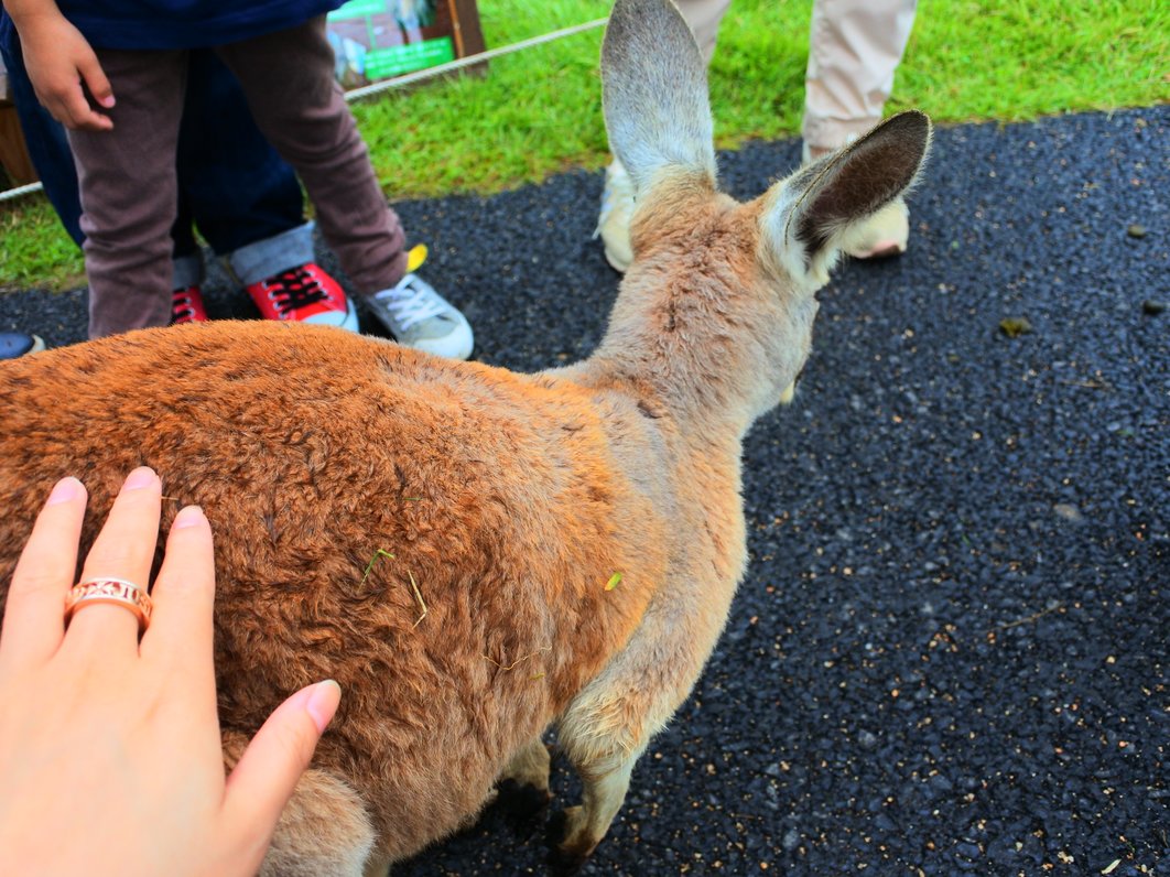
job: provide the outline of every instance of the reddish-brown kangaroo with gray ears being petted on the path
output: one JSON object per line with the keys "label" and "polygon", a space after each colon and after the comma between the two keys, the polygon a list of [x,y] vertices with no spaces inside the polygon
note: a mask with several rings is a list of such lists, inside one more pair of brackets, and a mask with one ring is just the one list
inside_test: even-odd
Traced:
{"label": "reddish-brown kangaroo with gray ears being petted on the path", "polygon": [[548,795],[553,725],[584,781],[557,851],[593,851],[743,575],[742,438],[803,367],[838,253],[929,147],[904,112],[738,203],[669,0],[618,0],[601,69],[635,260],[581,362],[517,374],[223,322],[0,366],[0,598],[57,478],[90,491],[88,547],[147,464],[161,532],[197,503],[218,536],[226,762],[287,693],[340,683],[266,873],[385,873],[502,779]]}

